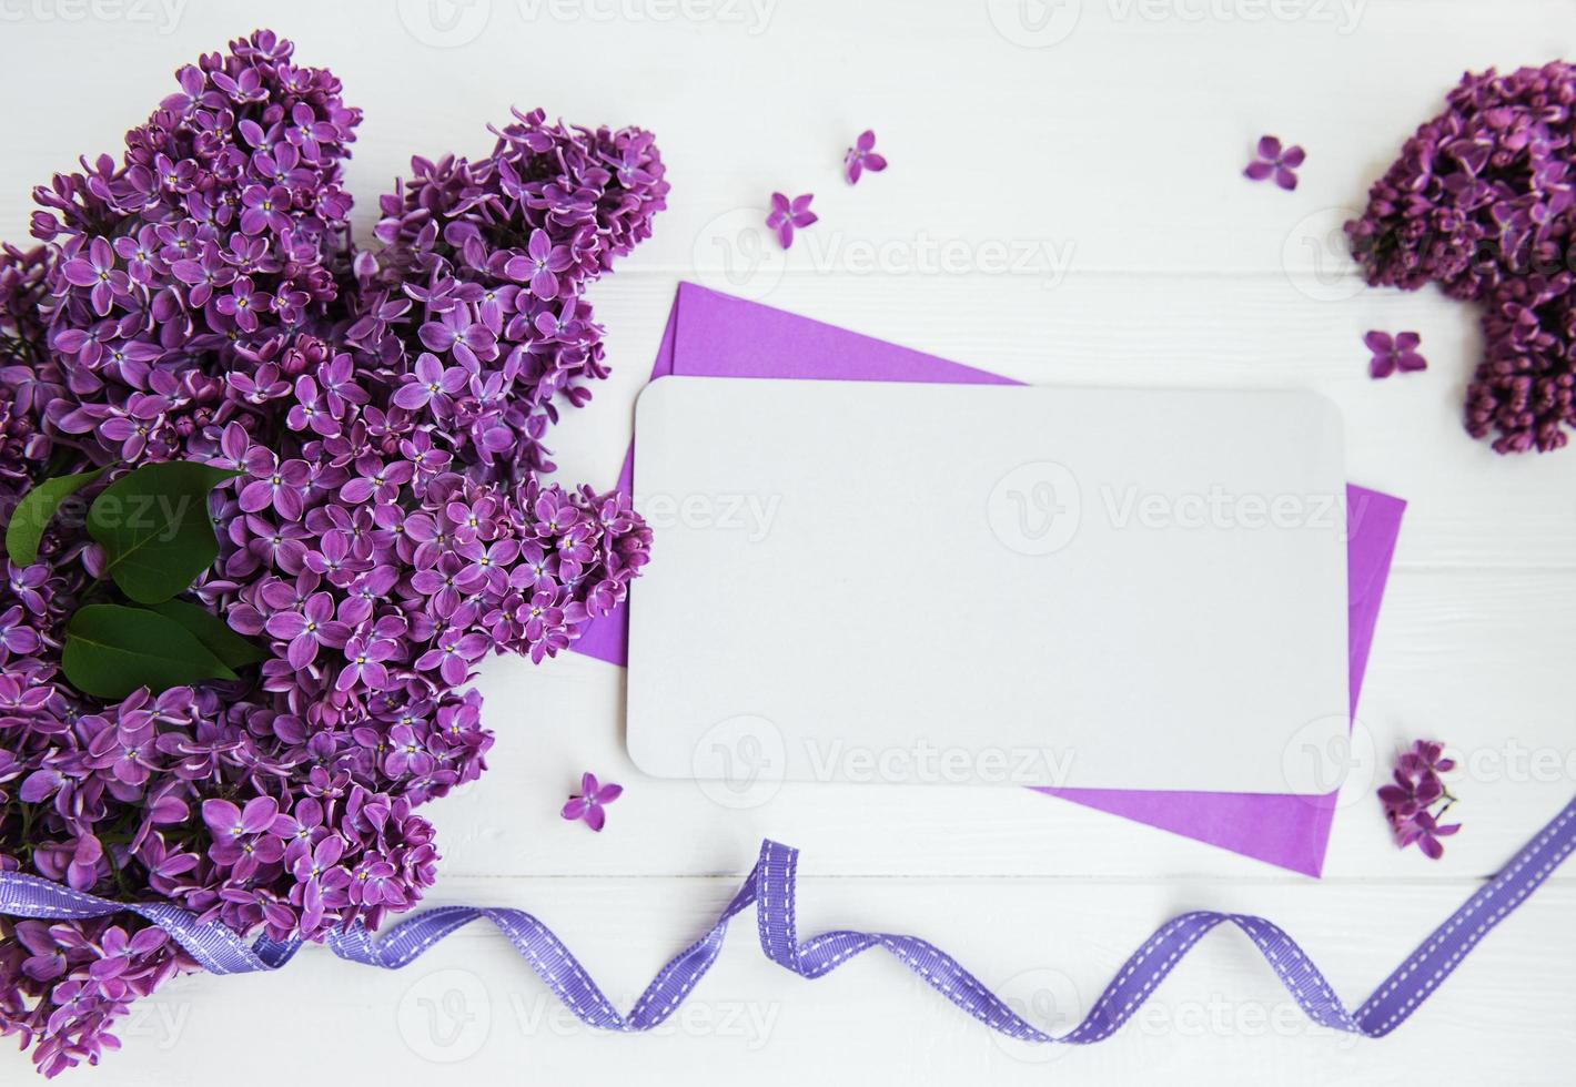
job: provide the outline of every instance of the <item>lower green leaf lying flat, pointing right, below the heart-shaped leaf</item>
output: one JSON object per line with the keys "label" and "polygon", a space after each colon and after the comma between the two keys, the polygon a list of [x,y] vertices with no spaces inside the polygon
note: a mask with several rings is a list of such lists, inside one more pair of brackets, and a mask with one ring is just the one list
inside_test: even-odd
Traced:
{"label": "lower green leaf lying flat, pointing right, below the heart-shaped leaf", "polygon": [[72,687],[95,698],[235,679],[181,624],[118,603],[90,603],[71,616],[60,666]]}

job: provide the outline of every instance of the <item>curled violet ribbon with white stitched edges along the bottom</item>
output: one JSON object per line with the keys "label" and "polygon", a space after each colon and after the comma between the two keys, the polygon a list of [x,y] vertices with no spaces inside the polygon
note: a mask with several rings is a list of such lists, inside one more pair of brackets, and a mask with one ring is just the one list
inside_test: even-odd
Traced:
{"label": "curled violet ribbon with white stitched edges along the bottom", "polygon": [[[1381,1038],[1428,999],[1467,952],[1527,898],[1576,848],[1576,800],[1571,800],[1488,884],[1374,989],[1357,1011],[1347,1011],[1324,974],[1280,926],[1251,914],[1195,911],[1171,918],[1139,947],[1073,1030],[1051,1037],[1018,1016],[1004,1000],[965,970],[957,959],[916,936],[832,931],[801,940],[794,926],[794,871],[799,851],[775,841],[761,844],[761,857],[709,933],[684,948],[646,986],[629,1015],[621,1015],[552,929],[519,909],[443,906],[422,911],[374,940],[356,928],[328,939],[342,959],[388,970],[413,963],[449,933],[485,918],[509,937],[547,988],[583,1022],[605,1030],[651,1030],[684,1002],[722,952],[728,922],[752,903],[766,958],[799,977],[831,974],[862,952],[884,948],[933,989],[971,1016],[1023,1041],[1089,1044],[1111,1037],[1187,952],[1217,925],[1231,923],[1248,934],[1297,1005],[1314,1022]],[[214,974],[274,970],[290,961],[299,942],[258,939],[247,944],[232,929],[197,918],[169,903],[113,903],[84,895],[39,876],[0,873],[0,914],[43,920],[80,920],[131,912],[158,925]]]}

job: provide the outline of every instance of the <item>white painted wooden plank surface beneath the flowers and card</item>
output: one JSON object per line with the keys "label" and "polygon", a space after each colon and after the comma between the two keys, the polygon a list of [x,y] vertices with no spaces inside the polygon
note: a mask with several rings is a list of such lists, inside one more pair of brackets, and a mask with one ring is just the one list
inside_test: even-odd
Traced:
{"label": "white painted wooden plank surface beneath the flowers and card", "polygon": [[[493,769],[430,810],[432,903],[534,911],[627,1005],[771,835],[804,849],[804,931],[927,936],[1046,1026],[1191,907],[1275,918],[1355,1004],[1570,799],[1576,451],[1470,441],[1474,313],[1365,288],[1338,236],[1463,69],[1576,54],[1567,0],[0,0],[0,236],[24,238],[35,183],[115,151],[177,66],[260,20],[366,109],[361,227],[411,153],[485,153],[511,104],[657,132],[671,208],[594,288],[616,372],[555,435],[566,479],[611,482],[695,279],[1029,381],[1318,388],[1346,413],[1351,477],[1411,501],[1359,714],[1377,758],[1346,783],[1322,881],[1018,789],[785,786],[723,810],[634,770],[621,673],[571,655],[487,666]],[[892,167],[849,189],[842,151],[867,126]],[[1295,192],[1240,176],[1262,132],[1307,147]],[[786,260],[750,244],[772,189],[816,192],[821,214]],[[1034,257],[1001,269],[1004,250]],[[1370,328],[1418,329],[1429,370],[1370,381]],[[1417,736],[1469,767],[1440,863],[1396,852],[1371,796],[1374,762]],[[582,769],[627,786],[600,837],[556,814]],[[749,923],[670,1029],[597,1035],[478,929],[402,974],[309,952],[181,980],[69,1081],[1563,1084],[1573,906],[1576,870],[1379,1043],[1308,1027],[1226,933],[1114,1040],[1024,1051],[892,961],[801,981]]]}

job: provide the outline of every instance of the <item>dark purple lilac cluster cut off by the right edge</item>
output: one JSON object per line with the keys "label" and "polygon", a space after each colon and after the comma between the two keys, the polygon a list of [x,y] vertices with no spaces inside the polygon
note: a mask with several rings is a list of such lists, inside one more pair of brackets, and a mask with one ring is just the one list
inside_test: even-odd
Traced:
{"label": "dark purple lilac cluster cut off by the right edge", "polygon": [[1467,74],[1346,224],[1373,285],[1483,302],[1475,438],[1548,452],[1576,427],[1576,65]]}

